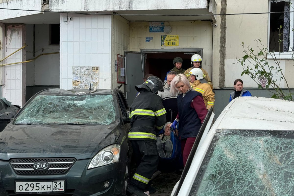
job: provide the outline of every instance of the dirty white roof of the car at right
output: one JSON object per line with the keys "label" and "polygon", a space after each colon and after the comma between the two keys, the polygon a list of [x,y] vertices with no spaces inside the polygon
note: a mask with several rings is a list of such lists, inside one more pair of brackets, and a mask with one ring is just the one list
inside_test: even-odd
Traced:
{"label": "dirty white roof of the car at right", "polygon": [[238,97],[220,114],[217,129],[294,130],[294,102],[265,97]]}

